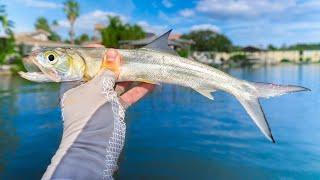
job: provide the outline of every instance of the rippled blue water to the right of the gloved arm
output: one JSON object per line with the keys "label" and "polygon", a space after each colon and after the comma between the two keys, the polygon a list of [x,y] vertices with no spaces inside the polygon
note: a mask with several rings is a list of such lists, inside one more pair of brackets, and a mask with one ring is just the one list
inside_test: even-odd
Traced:
{"label": "rippled blue water to the right of the gloved arm", "polygon": [[257,82],[302,85],[313,91],[262,100],[277,140],[273,145],[228,94],[217,92],[212,102],[190,89],[158,88],[129,110],[125,157],[118,177],[318,177],[320,89],[315,82],[319,82],[320,66],[230,69],[229,73]]}

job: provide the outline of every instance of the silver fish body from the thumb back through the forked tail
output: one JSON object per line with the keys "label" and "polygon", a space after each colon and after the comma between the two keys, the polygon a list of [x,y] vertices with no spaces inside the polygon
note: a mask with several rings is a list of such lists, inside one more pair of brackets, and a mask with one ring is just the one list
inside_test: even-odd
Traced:
{"label": "silver fish body from the thumb back through the forked tail", "polygon": [[[106,50],[101,51],[95,54],[103,54]],[[273,142],[271,130],[258,98],[308,90],[300,86],[280,86],[239,80],[199,62],[154,50],[119,49],[119,52],[123,56],[123,64],[118,81],[176,84],[192,88],[209,99],[213,99],[211,93],[216,90],[228,92],[240,101],[263,134]],[[97,72],[101,67],[101,59],[101,57],[96,59],[99,63],[87,62],[87,64],[95,64],[95,68],[91,69],[96,69]]]}

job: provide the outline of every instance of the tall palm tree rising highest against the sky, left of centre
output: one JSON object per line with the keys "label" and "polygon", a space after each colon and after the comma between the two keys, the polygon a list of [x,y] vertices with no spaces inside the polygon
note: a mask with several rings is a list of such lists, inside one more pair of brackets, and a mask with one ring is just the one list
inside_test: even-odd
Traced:
{"label": "tall palm tree rising highest against the sky, left of centre", "polygon": [[67,0],[64,3],[63,10],[66,13],[67,18],[70,22],[70,31],[69,31],[70,42],[74,44],[74,23],[77,17],[79,16],[79,4],[75,0]]}

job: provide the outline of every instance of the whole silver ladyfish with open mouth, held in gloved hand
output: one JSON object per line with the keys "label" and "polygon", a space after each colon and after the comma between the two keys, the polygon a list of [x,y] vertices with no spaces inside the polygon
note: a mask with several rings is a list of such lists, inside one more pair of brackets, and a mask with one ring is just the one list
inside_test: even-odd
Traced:
{"label": "whole silver ladyfish with open mouth, held in gloved hand", "polygon": [[[294,85],[248,82],[218,69],[179,57],[168,46],[171,30],[140,49],[118,49],[123,56],[118,82],[169,83],[194,89],[213,100],[212,93],[230,93],[244,107],[261,132],[275,142],[259,98],[309,91]],[[107,48],[51,48],[34,51],[25,60],[28,72],[20,75],[35,82],[88,81],[101,67]],[[110,67],[112,69],[112,67]]]}

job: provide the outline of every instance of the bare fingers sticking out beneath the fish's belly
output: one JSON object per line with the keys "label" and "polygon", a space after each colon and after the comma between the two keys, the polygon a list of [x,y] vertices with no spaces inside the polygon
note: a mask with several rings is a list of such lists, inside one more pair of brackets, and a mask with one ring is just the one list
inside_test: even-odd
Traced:
{"label": "bare fingers sticking out beneath the fish's belly", "polygon": [[124,93],[120,98],[122,102],[126,104],[126,106],[130,106],[145,96],[148,92],[152,91],[154,88],[154,84],[141,83],[140,85]]}

